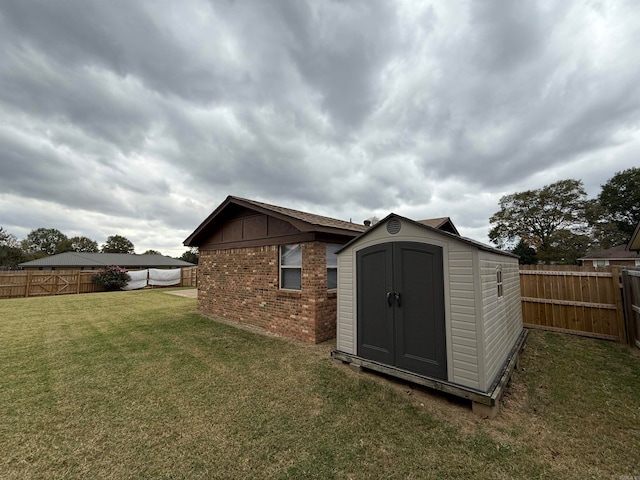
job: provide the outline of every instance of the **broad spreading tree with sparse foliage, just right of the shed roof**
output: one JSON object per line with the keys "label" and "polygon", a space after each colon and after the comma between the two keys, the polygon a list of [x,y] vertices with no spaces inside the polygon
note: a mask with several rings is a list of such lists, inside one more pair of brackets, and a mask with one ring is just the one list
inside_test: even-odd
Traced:
{"label": "broad spreading tree with sparse foliage, just right of the shed roof", "polygon": [[582,233],[586,226],[585,203],[582,182],[571,179],[505,195],[500,199],[500,211],[489,219],[489,238],[501,248],[524,240],[536,249],[538,258],[550,259],[555,232]]}

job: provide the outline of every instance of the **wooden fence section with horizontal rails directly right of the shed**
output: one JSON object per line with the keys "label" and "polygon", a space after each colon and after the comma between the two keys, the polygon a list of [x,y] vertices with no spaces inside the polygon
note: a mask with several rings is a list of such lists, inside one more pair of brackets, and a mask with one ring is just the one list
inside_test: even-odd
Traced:
{"label": "wooden fence section with horizontal rails directly right of the shed", "polygon": [[526,327],[626,342],[620,269],[521,265]]}

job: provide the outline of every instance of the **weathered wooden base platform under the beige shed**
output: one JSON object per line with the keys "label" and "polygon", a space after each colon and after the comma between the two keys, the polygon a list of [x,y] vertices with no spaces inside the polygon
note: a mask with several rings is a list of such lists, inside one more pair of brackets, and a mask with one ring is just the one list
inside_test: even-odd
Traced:
{"label": "weathered wooden base platform under the beige shed", "polygon": [[520,352],[524,347],[527,340],[529,331],[523,329],[522,333],[518,337],[515,345],[511,349],[507,360],[502,367],[502,372],[497,376],[496,380],[491,385],[491,388],[487,392],[475,390],[473,388],[451,383],[446,380],[436,379],[419,375],[417,373],[409,372],[401,368],[385,365],[383,363],[375,362],[373,360],[367,360],[365,358],[353,355],[350,353],[334,350],[331,352],[331,357],[337,361],[348,363],[355,369],[365,368],[367,370],[373,370],[375,372],[384,373],[392,377],[400,378],[417,385],[422,385],[440,392],[449,393],[457,397],[466,398],[471,400],[473,412],[483,417],[494,418],[498,414],[500,398],[504,393],[504,389],[509,383],[511,374],[517,366]]}

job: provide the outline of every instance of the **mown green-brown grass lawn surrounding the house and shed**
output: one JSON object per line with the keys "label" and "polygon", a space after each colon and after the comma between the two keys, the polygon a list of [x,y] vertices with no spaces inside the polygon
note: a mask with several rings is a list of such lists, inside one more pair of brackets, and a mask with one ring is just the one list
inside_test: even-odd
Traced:
{"label": "mown green-brown grass lawn surrounding the house and shed", "polygon": [[163,291],[0,301],[0,477],[640,476],[640,355],[533,331],[499,417]]}

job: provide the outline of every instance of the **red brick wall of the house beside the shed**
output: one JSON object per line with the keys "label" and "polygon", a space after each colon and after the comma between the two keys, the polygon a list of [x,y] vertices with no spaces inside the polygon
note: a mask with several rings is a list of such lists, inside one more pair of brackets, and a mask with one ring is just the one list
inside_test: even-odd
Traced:
{"label": "red brick wall of the house beside the shed", "polygon": [[302,243],[302,289],[279,289],[277,245],[203,250],[198,308],[212,318],[319,343],[336,335],[336,293],[327,291],[326,245]]}

